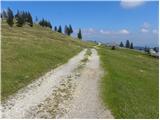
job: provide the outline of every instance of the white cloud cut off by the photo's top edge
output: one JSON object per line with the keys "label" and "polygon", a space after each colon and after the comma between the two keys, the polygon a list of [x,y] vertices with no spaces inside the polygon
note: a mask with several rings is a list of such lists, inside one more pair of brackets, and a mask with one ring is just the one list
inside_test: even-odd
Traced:
{"label": "white cloud cut off by the photo's top edge", "polygon": [[144,4],[144,0],[121,0],[120,5],[123,8],[135,8]]}

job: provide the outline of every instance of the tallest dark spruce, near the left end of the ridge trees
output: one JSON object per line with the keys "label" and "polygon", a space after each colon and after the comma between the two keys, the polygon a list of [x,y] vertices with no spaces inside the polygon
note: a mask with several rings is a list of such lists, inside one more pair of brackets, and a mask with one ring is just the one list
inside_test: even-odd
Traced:
{"label": "tallest dark spruce, near the left end of the ridge trees", "polygon": [[10,27],[12,27],[14,24],[13,18],[14,18],[13,12],[10,8],[8,8],[8,10],[7,10],[7,23]]}

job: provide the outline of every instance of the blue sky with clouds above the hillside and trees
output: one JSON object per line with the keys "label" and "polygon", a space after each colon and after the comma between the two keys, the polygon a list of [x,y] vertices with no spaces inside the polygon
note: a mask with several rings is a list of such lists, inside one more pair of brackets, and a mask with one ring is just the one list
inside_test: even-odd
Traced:
{"label": "blue sky with clouds above the hillside and trees", "polygon": [[105,43],[127,39],[136,46],[158,46],[158,2],[154,1],[3,1],[2,9],[10,7],[30,11],[33,18],[45,18],[53,26],[71,24],[76,35],[82,29],[83,39]]}

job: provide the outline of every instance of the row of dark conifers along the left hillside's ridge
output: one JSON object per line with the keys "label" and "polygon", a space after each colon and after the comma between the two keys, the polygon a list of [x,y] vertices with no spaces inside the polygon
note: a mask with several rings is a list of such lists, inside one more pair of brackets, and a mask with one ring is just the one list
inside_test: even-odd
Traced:
{"label": "row of dark conifers along the left hillside's ridge", "polygon": [[[12,27],[14,24],[16,24],[17,27],[23,27],[24,25],[29,25],[30,27],[33,27],[33,18],[30,12],[26,11],[17,11],[17,13],[14,15],[13,11],[8,8],[6,11],[1,12],[1,19],[5,19],[6,22],[10,27]],[[15,22],[14,22],[15,21]],[[44,18],[38,22],[38,18],[36,17],[36,23],[38,23],[42,27],[48,27],[52,29],[52,24],[50,21],[45,20]],[[59,27],[54,27],[55,32],[63,33],[61,25]],[[64,27],[64,34],[70,36],[73,33],[72,26],[65,25]],[[77,33],[77,38],[82,39],[82,33],[81,29],[79,29]]]}

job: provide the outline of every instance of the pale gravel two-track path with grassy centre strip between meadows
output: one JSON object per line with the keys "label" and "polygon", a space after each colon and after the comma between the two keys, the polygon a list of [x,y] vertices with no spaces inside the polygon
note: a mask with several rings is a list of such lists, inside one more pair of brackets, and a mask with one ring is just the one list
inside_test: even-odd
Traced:
{"label": "pale gravel two-track path with grassy centre strip between meadows", "polygon": [[11,96],[2,104],[2,117],[113,118],[99,99],[97,51],[86,51]]}

